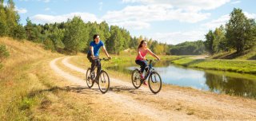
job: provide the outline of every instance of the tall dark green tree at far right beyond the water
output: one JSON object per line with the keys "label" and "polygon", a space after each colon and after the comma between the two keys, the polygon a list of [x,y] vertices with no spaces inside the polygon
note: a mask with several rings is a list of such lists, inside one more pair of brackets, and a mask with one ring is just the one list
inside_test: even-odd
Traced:
{"label": "tall dark green tree at far right beyond the water", "polygon": [[230,14],[230,20],[226,24],[226,39],[237,53],[244,52],[254,45],[255,21],[246,18],[242,10],[234,8]]}

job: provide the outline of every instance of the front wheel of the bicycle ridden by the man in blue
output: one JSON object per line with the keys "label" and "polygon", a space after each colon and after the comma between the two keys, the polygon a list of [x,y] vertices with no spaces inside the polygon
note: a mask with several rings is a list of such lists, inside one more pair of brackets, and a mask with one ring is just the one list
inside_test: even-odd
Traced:
{"label": "front wheel of the bicycle ridden by the man in blue", "polygon": [[104,94],[106,93],[110,88],[110,77],[109,75],[102,70],[102,72],[99,74],[98,78],[98,88],[99,90]]}

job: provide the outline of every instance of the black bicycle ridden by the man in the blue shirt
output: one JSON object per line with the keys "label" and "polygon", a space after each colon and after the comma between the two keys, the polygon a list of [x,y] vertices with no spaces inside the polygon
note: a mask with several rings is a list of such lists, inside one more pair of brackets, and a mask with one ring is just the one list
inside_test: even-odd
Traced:
{"label": "black bicycle ridden by the man in the blue shirt", "polygon": [[[110,59],[106,58],[95,58],[94,61],[109,61]],[[97,63],[96,63],[97,64]],[[90,72],[90,68],[87,69],[86,72],[86,84],[89,88],[94,86],[94,83],[98,84],[99,90],[104,94],[110,88],[110,77],[106,71],[100,70],[99,74],[97,73],[97,65],[94,66],[94,71]]]}

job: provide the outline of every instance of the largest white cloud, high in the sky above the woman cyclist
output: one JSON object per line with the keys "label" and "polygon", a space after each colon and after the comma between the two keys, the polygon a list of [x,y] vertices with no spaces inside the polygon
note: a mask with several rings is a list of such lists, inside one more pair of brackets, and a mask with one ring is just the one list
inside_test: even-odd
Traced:
{"label": "largest white cloud, high in the sky above the woman cyclist", "polygon": [[[142,6],[126,6],[122,10],[108,11],[102,20],[122,25],[126,21],[129,23],[141,21],[142,25],[136,24],[137,29],[146,29],[150,26],[151,21],[171,21],[177,20],[182,22],[195,23],[209,18],[210,14],[186,12],[180,9],[173,9],[173,6],[158,5],[142,5]],[[119,24],[122,23],[122,24]]]}

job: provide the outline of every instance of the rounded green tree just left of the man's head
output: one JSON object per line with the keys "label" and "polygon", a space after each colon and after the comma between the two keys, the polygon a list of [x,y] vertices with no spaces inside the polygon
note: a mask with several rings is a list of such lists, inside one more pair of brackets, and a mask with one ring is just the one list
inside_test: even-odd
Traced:
{"label": "rounded green tree just left of the man's head", "polygon": [[66,23],[66,32],[63,43],[65,49],[78,53],[87,47],[87,40],[89,40],[88,32],[84,22],[79,17],[74,17]]}

